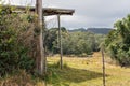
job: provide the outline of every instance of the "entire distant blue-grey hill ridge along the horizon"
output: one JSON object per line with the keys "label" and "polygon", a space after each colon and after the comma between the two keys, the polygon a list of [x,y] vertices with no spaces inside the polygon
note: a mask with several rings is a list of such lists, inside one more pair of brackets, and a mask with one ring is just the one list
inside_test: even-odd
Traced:
{"label": "entire distant blue-grey hill ridge along the horizon", "polygon": [[93,32],[93,33],[98,33],[98,34],[107,34],[110,30],[113,30],[112,28],[79,28],[79,29],[74,29],[74,30],[68,30],[69,32]]}

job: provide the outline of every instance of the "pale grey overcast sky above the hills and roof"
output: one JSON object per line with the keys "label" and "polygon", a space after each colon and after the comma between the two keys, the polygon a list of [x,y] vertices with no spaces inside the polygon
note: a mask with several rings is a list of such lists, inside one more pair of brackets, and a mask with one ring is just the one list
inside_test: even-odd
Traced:
{"label": "pale grey overcast sky above the hills and roof", "polygon": [[[9,0],[4,0],[9,1]],[[12,4],[35,5],[35,0],[10,0]],[[130,13],[130,0],[43,0],[46,8],[75,9],[73,16],[63,16],[62,26],[69,29],[106,27]],[[56,17],[48,17],[49,26],[56,27]],[[51,22],[52,20],[52,22]]]}

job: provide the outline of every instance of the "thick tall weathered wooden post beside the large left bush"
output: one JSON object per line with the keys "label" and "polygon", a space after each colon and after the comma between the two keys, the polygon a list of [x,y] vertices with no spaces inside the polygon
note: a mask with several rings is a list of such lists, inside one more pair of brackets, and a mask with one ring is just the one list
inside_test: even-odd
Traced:
{"label": "thick tall weathered wooden post beside the large left bush", "polygon": [[43,48],[43,23],[42,23],[42,0],[36,1],[36,11],[38,14],[38,26],[40,28],[40,34],[38,35],[37,44],[37,71],[39,74],[43,75],[46,73],[44,67],[44,48]]}

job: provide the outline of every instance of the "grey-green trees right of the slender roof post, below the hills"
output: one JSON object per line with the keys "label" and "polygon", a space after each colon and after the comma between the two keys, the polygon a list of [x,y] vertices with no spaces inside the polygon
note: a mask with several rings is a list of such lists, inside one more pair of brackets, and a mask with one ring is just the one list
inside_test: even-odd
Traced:
{"label": "grey-green trees right of the slender roof post, below the hills", "polygon": [[63,38],[63,53],[76,55],[91,55],[98,52],[99,45],[104,39],[102,34],[91,32],[72,32]]}

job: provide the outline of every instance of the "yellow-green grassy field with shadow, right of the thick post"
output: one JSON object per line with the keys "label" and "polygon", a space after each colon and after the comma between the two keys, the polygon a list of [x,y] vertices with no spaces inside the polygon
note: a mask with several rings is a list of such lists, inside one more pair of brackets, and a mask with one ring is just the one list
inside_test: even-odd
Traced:
{"label": "yellow-green grassy field with shadow, right of the thick post", "polygon": [[[94,53],[92,57],[64,57],[64,69],[60,70],[60,58],[49,57],[49,72],[47,86],[103,86],[102,57]],[[106,86],[130,86],[130,68],[108,63],[106,57]]]}

